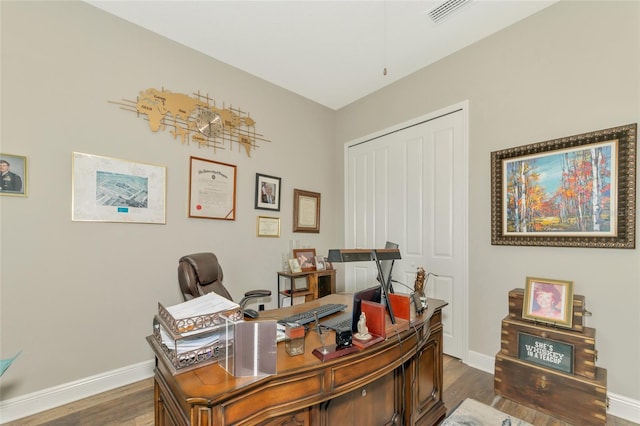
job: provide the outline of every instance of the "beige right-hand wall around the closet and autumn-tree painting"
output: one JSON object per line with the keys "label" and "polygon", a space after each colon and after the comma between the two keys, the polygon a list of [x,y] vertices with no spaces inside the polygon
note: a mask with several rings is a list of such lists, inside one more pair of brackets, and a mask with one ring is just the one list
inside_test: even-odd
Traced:
{"label": "beige right-hand wall around the closet and autumn-tree painting", "polygon": [[468,99],[469,350],[498,352],[507,293],[527,276],[570,280],[593,312],[586,324],[597,330],[609,391],[636,400],[638,249],[492,246],[489,159],[504,148],[638,122],[639,18],[638,2],[558,3],[341,109],[336,132],[342,147]]}

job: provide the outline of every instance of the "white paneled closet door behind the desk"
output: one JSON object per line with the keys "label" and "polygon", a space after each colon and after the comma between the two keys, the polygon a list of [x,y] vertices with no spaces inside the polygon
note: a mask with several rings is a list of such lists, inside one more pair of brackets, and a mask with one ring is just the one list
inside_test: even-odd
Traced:
{"label": "white paneled closet door behind the desk", "polygon": [[[443,299],[444,352],[466,351],[467,136],[466,111],[417,120],[349,144],[346,155],[347,248],[400,245],[394,290],[409,293],[417,267],[431,276],[427,296]],[[347,263],[345,289],[375,285],[373,262]],[[404,284],[404,285],[403,285]],[[406,286],[406,287],[405,287]]]}

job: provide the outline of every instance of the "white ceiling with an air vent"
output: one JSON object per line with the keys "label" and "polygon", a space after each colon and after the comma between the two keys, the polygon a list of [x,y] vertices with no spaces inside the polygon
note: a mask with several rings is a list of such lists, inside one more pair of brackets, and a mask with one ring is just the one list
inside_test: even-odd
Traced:
{"label": "white ceiling with an air vent", "polygon": [[438,24],[443,0],[87,3],[339,109],[556,1],[472,0]]}

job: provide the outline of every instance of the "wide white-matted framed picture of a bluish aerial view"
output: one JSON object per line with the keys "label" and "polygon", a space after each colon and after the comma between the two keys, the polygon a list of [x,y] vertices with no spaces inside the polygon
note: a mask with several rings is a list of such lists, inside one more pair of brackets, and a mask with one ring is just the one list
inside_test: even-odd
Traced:
{"label": "wide white-matted framed picture of a bluish aerial view", "polygon": [[165,223],[167,168],[74,152],[71,220]]}

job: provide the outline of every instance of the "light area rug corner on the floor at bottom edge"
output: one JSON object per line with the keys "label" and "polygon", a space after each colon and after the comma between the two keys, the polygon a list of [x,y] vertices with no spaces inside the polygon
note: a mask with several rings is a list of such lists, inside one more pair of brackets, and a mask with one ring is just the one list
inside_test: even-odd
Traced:
{"label": "light area rug corner on the floor at bottom edge", "polygon": [[467,398],[440,426],[533,426],[475,399]]}

